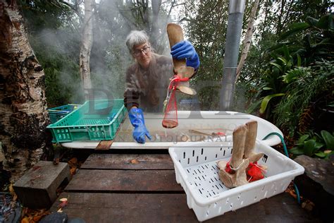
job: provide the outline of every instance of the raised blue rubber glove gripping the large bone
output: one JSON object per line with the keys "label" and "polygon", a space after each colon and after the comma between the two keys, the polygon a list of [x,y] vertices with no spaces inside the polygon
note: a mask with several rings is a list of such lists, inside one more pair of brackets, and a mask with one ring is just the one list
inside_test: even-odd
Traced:
{"label": "raised blue rubber glove gripping the large bone", "polygon": [[171,48],[171,54],[175,59],[187,59],[187,66],[195,69],[199,67],[199,57],[189,41],[181,41]]}

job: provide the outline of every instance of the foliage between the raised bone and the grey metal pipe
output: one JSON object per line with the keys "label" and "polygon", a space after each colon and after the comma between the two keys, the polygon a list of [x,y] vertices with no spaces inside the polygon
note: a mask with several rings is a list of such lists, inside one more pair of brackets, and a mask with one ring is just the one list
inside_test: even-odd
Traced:
{"label": "foliage between the raised bone and the grey metal pipe", "polygon": [[186,2],[190,13],[185,30],[199,54],[201,66],[192,85],[197,86],[202,110],[219,108],[219,92],[223,75],[223,54],[228,20],[228,1]]}

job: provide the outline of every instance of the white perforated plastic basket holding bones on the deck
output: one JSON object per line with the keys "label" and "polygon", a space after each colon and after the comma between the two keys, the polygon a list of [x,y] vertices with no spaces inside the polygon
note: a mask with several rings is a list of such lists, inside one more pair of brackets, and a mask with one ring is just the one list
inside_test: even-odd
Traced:
{"label": "white perforated plastic basket holding bones on the deck", "polygon": [[220,181],[216,162],[229,160],[233,142],[190,143],[185,147],[170,147],[176,181],[187,194],[187,205],[199,221],[204,221],[230,210],[259,202],[285,191],[290,182],[304,168],[272,147],[256,141],[256,152],[264,152],[259,164],[268,167],[265,178],[228,189]]}

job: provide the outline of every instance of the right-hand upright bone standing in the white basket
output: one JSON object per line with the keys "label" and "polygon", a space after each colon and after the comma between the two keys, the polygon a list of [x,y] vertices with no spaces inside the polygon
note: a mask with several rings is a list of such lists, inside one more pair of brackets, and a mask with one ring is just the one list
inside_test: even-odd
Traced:
{"label": "right-hand upright bone standing in the white basket", "polygon": [[243,158],[249,159],[249,162],[257,162],[264,156],[264,153],[254,152],[257,133],[257,121],[249,121],[245,125],[247,126],[247,134]]}

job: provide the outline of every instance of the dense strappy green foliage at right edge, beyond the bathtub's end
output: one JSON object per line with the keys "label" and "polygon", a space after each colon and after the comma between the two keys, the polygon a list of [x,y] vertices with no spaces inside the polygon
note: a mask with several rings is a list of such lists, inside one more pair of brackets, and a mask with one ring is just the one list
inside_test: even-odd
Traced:
{"label": "dense strappy green foliage at right edge, beyond the bathtub's end", "polygon": [[257,85],[259,111],[290,136],[295,135],[305,109],[320,114],[333,100],[333,34],[332,15],[308,17],[306,23],[290,25],[267,51],[271,61]]}

